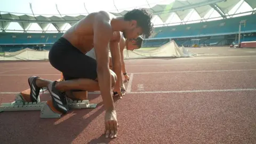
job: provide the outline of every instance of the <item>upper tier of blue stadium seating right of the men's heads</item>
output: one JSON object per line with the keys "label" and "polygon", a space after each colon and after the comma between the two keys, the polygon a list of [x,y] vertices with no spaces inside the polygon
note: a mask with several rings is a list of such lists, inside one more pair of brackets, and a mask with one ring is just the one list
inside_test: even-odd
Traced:
{"label": "upper tier of blue stadium seating right of the men's heads", "polygon": [[255,19],[256,15],[253,14],[223,20],[192,23],[188,25],[157,27],[154,29],[155,33],[157,34],[153,38],[177,38],[205,35],[234,34],[238,33],[239,22],[242,20],[246,20],[246,25],[245,27],[241,27],[241,31],[256,31]]}

